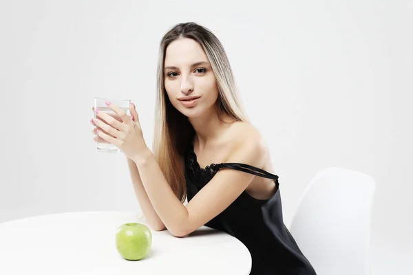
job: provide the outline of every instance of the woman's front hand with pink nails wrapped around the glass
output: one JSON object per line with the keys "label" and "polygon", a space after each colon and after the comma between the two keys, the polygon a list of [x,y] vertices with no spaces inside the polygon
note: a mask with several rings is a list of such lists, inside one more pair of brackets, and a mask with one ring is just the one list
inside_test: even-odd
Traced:
{"label": "woman's front hand with pink nails wrapped around the glass", "polygon": [[143,139],[135,105],[131,104],[129,106],[131,117],[115,104],[107,102],[107,106],[118,115],[118,118],[114,118],[104,111],[96,112],[94,124],[101,129],[96,129],[98,137],[108,143],[114,144],[130,159],[135,160],[143,157],[148,153],[149,148],[147,148],[145,140]]}

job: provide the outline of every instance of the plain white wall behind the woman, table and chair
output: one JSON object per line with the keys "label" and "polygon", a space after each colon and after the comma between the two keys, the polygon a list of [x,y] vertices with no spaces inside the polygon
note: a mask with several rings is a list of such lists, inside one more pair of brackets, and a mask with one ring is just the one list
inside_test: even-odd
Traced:
{"label": "plain white wall behind the woman, table and chair", "polygon": [[0,222],[138,209],[125,157],[96,151],[93,97],[135,102],[151,144],[158,44],[195,21],[224,44],[271,147],[286,224],[318,170],[361,170],[377,183],[374,274],[407,268],[413,5],[332,2],[1,1]]}

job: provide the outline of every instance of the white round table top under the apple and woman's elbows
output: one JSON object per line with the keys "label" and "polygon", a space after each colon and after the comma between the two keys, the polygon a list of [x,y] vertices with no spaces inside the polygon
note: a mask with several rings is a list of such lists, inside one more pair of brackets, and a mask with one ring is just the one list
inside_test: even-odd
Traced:
{"label": "white round table top under the apple and woman's elbows", "polygon": [[248,249],[233,236],[206,226],[184,238],[151,230],[149,254],[127,261],[116,250],[116,229],[123,223],[146,224],[140,217],[134,212],[66,212],[0,223],[0,274],[251,272]]}

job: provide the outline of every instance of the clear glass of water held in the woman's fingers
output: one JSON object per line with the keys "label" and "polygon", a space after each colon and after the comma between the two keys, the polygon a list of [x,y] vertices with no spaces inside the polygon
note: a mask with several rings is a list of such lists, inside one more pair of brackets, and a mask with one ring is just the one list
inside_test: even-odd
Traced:
{"label": "clear glass of water held in the woman's fingers", "polygon": [[[120,119],[119,116],[107,106],[107,104],[105,103],[107,101],[112,102],[112,104],[115,104],[120,109],[123,109],[123,111],[125,111],[127,115],[131,115],[131,112],[129,110],[129,105],[131,104],[131,100],[119,100],[119,99],[113,99],[113,98],[94,98],[95,111],[96,109],[99,111],[103,111],[107,113],[108,115],[111,115],[113,118],[115,118],[119,122],[123,122],[122,119]],[[96,120],[101,120],[102,122],[108,124],[105,120],[98,117],[96,113],[94,114],[94,118]],[[96,126],[96,129],[103,131],[103,133],[106,133],[109,135],[109,133],[107,133],[106,131],[104,131],[98,126]],[[98,151],[100,152],[120,153],[120,149],[118,147],[116,147],[112,143],[107,142],[106,140],[103,140],[103,138],[100,136],[97,136],[96,145],[97,145]]]}

